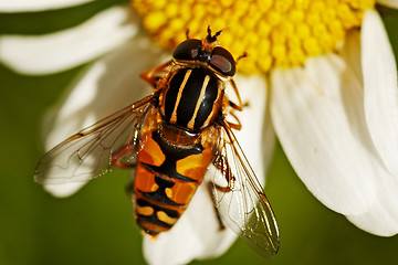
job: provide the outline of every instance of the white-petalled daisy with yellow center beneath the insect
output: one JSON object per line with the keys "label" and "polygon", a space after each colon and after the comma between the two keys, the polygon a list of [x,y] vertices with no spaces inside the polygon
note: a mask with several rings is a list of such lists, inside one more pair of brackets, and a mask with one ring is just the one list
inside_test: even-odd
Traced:
{"label": "white-petalled daisy with yellow center beneath the insect", "polygon": [[[86,1],[0,1],[0,11]],[[398,8],[394,0],[376,2]],[[0,61],[35,75],[95,60],[46,116],[49,149],[150,93],[138,74],[169,56],[157,45],[175,47],[186,29],[190,38],[202,38],[208,24],[223,29],[222,45],[235,56],[248,54],[238,64],[238,87],[249,106],[239,114],[237,138],[260,181],[276,135],[314,197],[358,227],[391,236],[398,233],[397,68],[376,2],[136,0],[134,9],[114,7],[65,31],[2,35]],[[45,188],[64,197],[80,187]],[[218,256],[234,239],[218,231],[201,188],[169,233],[144,241],[144,253],[153,264],[181,264]]]}

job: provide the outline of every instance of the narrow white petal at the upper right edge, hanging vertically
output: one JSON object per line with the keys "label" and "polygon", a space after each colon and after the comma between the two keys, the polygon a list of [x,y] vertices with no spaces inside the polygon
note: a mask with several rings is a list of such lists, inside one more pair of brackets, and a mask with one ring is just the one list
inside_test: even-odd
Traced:
{"label": "narrow white petal at the upper right edge, hanging vertically", "polygon": [[366,121],[386,167],[398,174],[397,65],[383,21],[374,10],[365,12],[362,51]]}

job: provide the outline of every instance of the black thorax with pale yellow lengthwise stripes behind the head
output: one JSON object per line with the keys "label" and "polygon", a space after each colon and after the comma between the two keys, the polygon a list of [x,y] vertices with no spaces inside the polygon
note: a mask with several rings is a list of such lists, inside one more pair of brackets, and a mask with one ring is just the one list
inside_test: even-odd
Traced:
{"label": "black thorax with pale yellow lengthwise stripes behind the head", "polygon": [[160,104],[164,119],[198,131],[217,117],[223,96],[222,83],[203,68],[181,68],[170,77]]}

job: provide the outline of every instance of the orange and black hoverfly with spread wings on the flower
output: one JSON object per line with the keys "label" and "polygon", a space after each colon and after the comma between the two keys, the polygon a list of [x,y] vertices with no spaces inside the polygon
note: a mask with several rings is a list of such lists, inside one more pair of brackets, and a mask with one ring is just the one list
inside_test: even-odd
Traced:
{"label": "orange and black hoverfly with spread wings on the flower", "polygon": [[[153,237],[172,227],[205,184],[220,229],[227,224],[258,253],[273,256],[279,229],[232,131],[241,128],[233,112],[243,104],[232,78],[235,61],[217,44],[220,33],[212,35],[209,26],[202,40],[187,34],[169,62],[142,74],[154,87],[149,96],[55,146],[39,162],[35,181],[62,184],[135,169],[136,222]],[[226,95],[227,86],[238,103]]]}

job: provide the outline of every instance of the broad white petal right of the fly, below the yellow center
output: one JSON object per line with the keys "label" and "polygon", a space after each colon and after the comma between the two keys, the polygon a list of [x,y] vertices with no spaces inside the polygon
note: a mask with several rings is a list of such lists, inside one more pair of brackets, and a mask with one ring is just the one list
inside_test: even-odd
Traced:
{"label": "broad white petal right of the fly, below the yellow center", "polygon": [[374,158],[356,75],[336,55],[272,74],[271,114],[283,149],[312,193],[343,214],[375,200]]}

